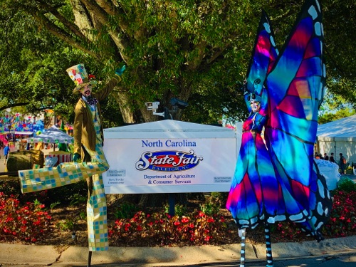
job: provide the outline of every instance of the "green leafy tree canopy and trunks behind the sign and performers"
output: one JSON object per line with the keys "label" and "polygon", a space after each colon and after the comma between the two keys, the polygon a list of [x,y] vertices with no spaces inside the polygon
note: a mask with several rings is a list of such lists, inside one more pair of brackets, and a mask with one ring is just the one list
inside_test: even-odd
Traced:
{"label": "green leafy tree canopy and trunks behind the sign and performers", "polygon": [[[171,98],[189,107],[174,119],[216,123],[246,115],[241,82],[265,9],[281,47],[303,3],[287,0],[3,0],[0,10],[0,110],[23,105],[73,116],[66,68],[105,83],[125,64],[108,100],[108,124],[157,120],[144,103]],[[353,0],[325,0],[325,58],[330,93],[356,103]],[[114,101],[115,100],[115,101]],[[120,108],[120,110],[118,109]],[[112,115],[115,114],[115,115]],[[105,115],[105,114],[104,114]],[[122,116],[122,118],[119,118]]]}

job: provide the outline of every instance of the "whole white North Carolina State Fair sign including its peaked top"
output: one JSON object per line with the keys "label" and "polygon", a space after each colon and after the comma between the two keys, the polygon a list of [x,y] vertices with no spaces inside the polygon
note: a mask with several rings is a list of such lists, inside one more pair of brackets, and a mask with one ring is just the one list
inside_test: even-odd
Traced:
{"label": "whole white North Carolina State Fair sign including its peaked top", "polygon": [[226,128],[164,120],[104,135],[106,194],[229,192],[236,138]]}

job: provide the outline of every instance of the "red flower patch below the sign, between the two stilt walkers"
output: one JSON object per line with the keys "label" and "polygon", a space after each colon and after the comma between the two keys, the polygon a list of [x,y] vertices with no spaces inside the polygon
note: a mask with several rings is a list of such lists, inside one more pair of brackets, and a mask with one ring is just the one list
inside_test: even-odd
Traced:
{"label": "red flower patch below the sign, between the two stilt walkers", "polygon": [[194,211],[190,216],[145,214],[138,211],[132,219],[117,219],[110,227],[109,236],[111,241],[117,239],[120,243],[127,244],[132,240],[140,242],[137,239],[150,239],[152,245],[159,241],[161,246],[193,246],[210,244],[225,229],[223,216],[207,216],[202,211]]}

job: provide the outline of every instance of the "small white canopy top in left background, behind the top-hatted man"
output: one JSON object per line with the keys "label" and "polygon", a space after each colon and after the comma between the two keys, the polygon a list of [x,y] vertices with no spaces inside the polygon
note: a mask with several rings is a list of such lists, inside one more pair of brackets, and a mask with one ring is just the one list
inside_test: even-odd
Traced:
{"label": "small white canopy top in left background, behind the top-hatted man", "polygon": [[59,130],[56,126],[48,128],[46,132],[37,135],[36,137],[27,138],[27,142],[45,142],[45,143],[58,143],[58,144],[71,144],[73,142],[73,137],[67,135],[62,130]]}

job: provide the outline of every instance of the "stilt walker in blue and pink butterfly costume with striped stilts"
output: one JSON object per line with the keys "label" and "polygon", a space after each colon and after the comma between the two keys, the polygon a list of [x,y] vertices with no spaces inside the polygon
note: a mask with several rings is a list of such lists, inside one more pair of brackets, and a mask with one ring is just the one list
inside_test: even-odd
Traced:
{"label": "stilt walker in blue and pink butterfly costume with striped stilts", "polygon": [[291,221],[323,240],[320,231],[332,199],[313,160],[313,148],[324,87],[318,1],[305,2],[281,53],[262,11],[243,88],[250,114],[226,202],[241,232],[241,267],[246,228],[265,227],[267,267],[273,266],[270,224]]}

